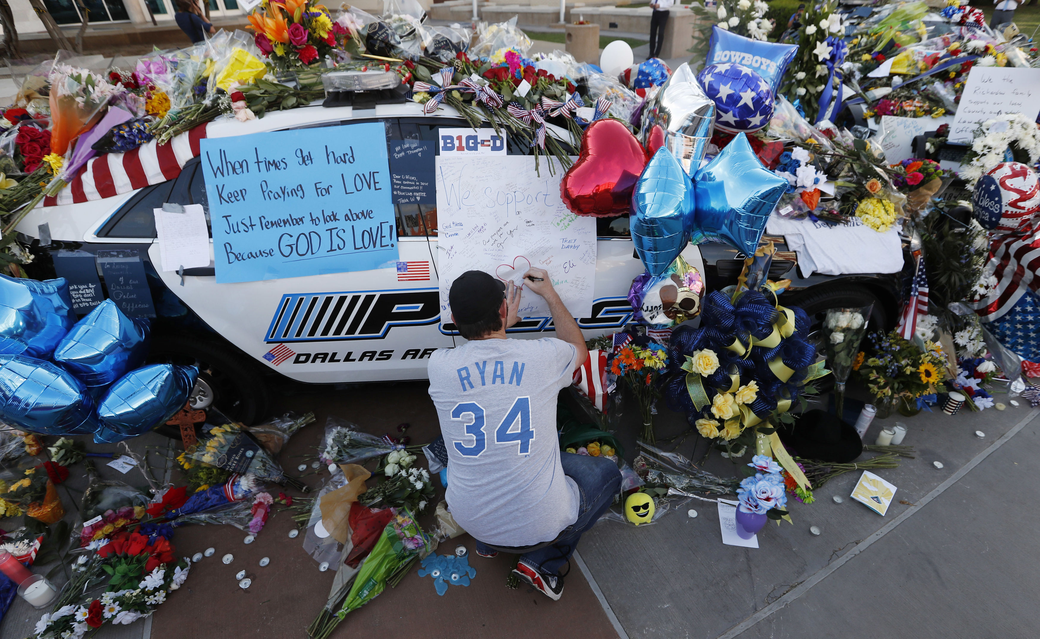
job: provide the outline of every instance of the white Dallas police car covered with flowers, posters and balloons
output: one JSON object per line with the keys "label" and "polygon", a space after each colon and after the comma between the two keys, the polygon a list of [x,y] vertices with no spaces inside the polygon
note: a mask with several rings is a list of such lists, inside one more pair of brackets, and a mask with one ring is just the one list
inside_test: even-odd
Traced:
{"label": "white Dallas police car covered with flowers, posters and balloons", "polygon": [[[246,123],[212,122],[205,135],[226,137],[363,122],[382,123],[388,145],[400,139],[431,140],[437,143],[440,154],[474,152],[479,145],[475,135],[441,135],[442,129],[469,126],[452,109],[442,107],[436,116],[424,116],[415,103],[364,110],[308,106]],[[565,129],[553,127],[552,131],[562,139],[567,136]],[[504,144],[510,155],[529,152],[518,140],[486,142]],[[89,291],[82,286],[95,278],[105,297],[136,295],[132,281],[128,288],[122,275],[102,267],[120,256],[132,261],[136,251],[151,295],[142,303],[150,302],[156,315],[152,358],[199,365],[203,373],[192,404],[205,407],[216,402],[246,423],[265,414],[268,374],[306,383],[424,379],[431,353],[459,342],[461,338],[447,324],[450,317],[440,313],[435,206],[394,205],[396,269],[218,284],[212,265],[188,269],[183,275],[155,267],[159,249],[154,208],[164,202],[202,204],[209,218],[203,170],[199,158],[192,157],[199,153],[197,145],[198,139],[185,134],[167,147],[157,148],[153,143],[118,160],[95,160],[100,165],[88,167],[56,202],[38,207],[19,225],[36,255],[27,267],[30,276],[79,278],[87,282],[79,289],[84,295]],[[148,185],[132,188],[142,183]],[[627,237],[626,220],[600,220],[597,234],[595,303],[591,315],[578,320],[587,337],[615,332],[631,320],[626,298],[632,278],[643,272]],[[104,259],[99,252],[105,252]],[[702,254],[708,259],[702,259]],[[87,258],[78,262],[79,273],[69,273],[66,266],[75,261],[70,261],[73,257]],[[735,282],[743,264],[736,252],[724,245],[691,246],[683,257],[701,270],[709,289]],[[810,313],[875,303],[875,326],[894,316],[896,276],[800,278],[791,269],[794,253],[784,257],[787,260],[774,262],[772,275],[795,279],[785,303],[801,304]],[[97,275],[84,273],[84,263],[97,264]],[[142,290],[144,284],[137,285],[136,290]],[[88,308],[84,303],[80,312]],[[541,337],[552,331],[550,317],[525,317],[510,332],[517,337]]]}

